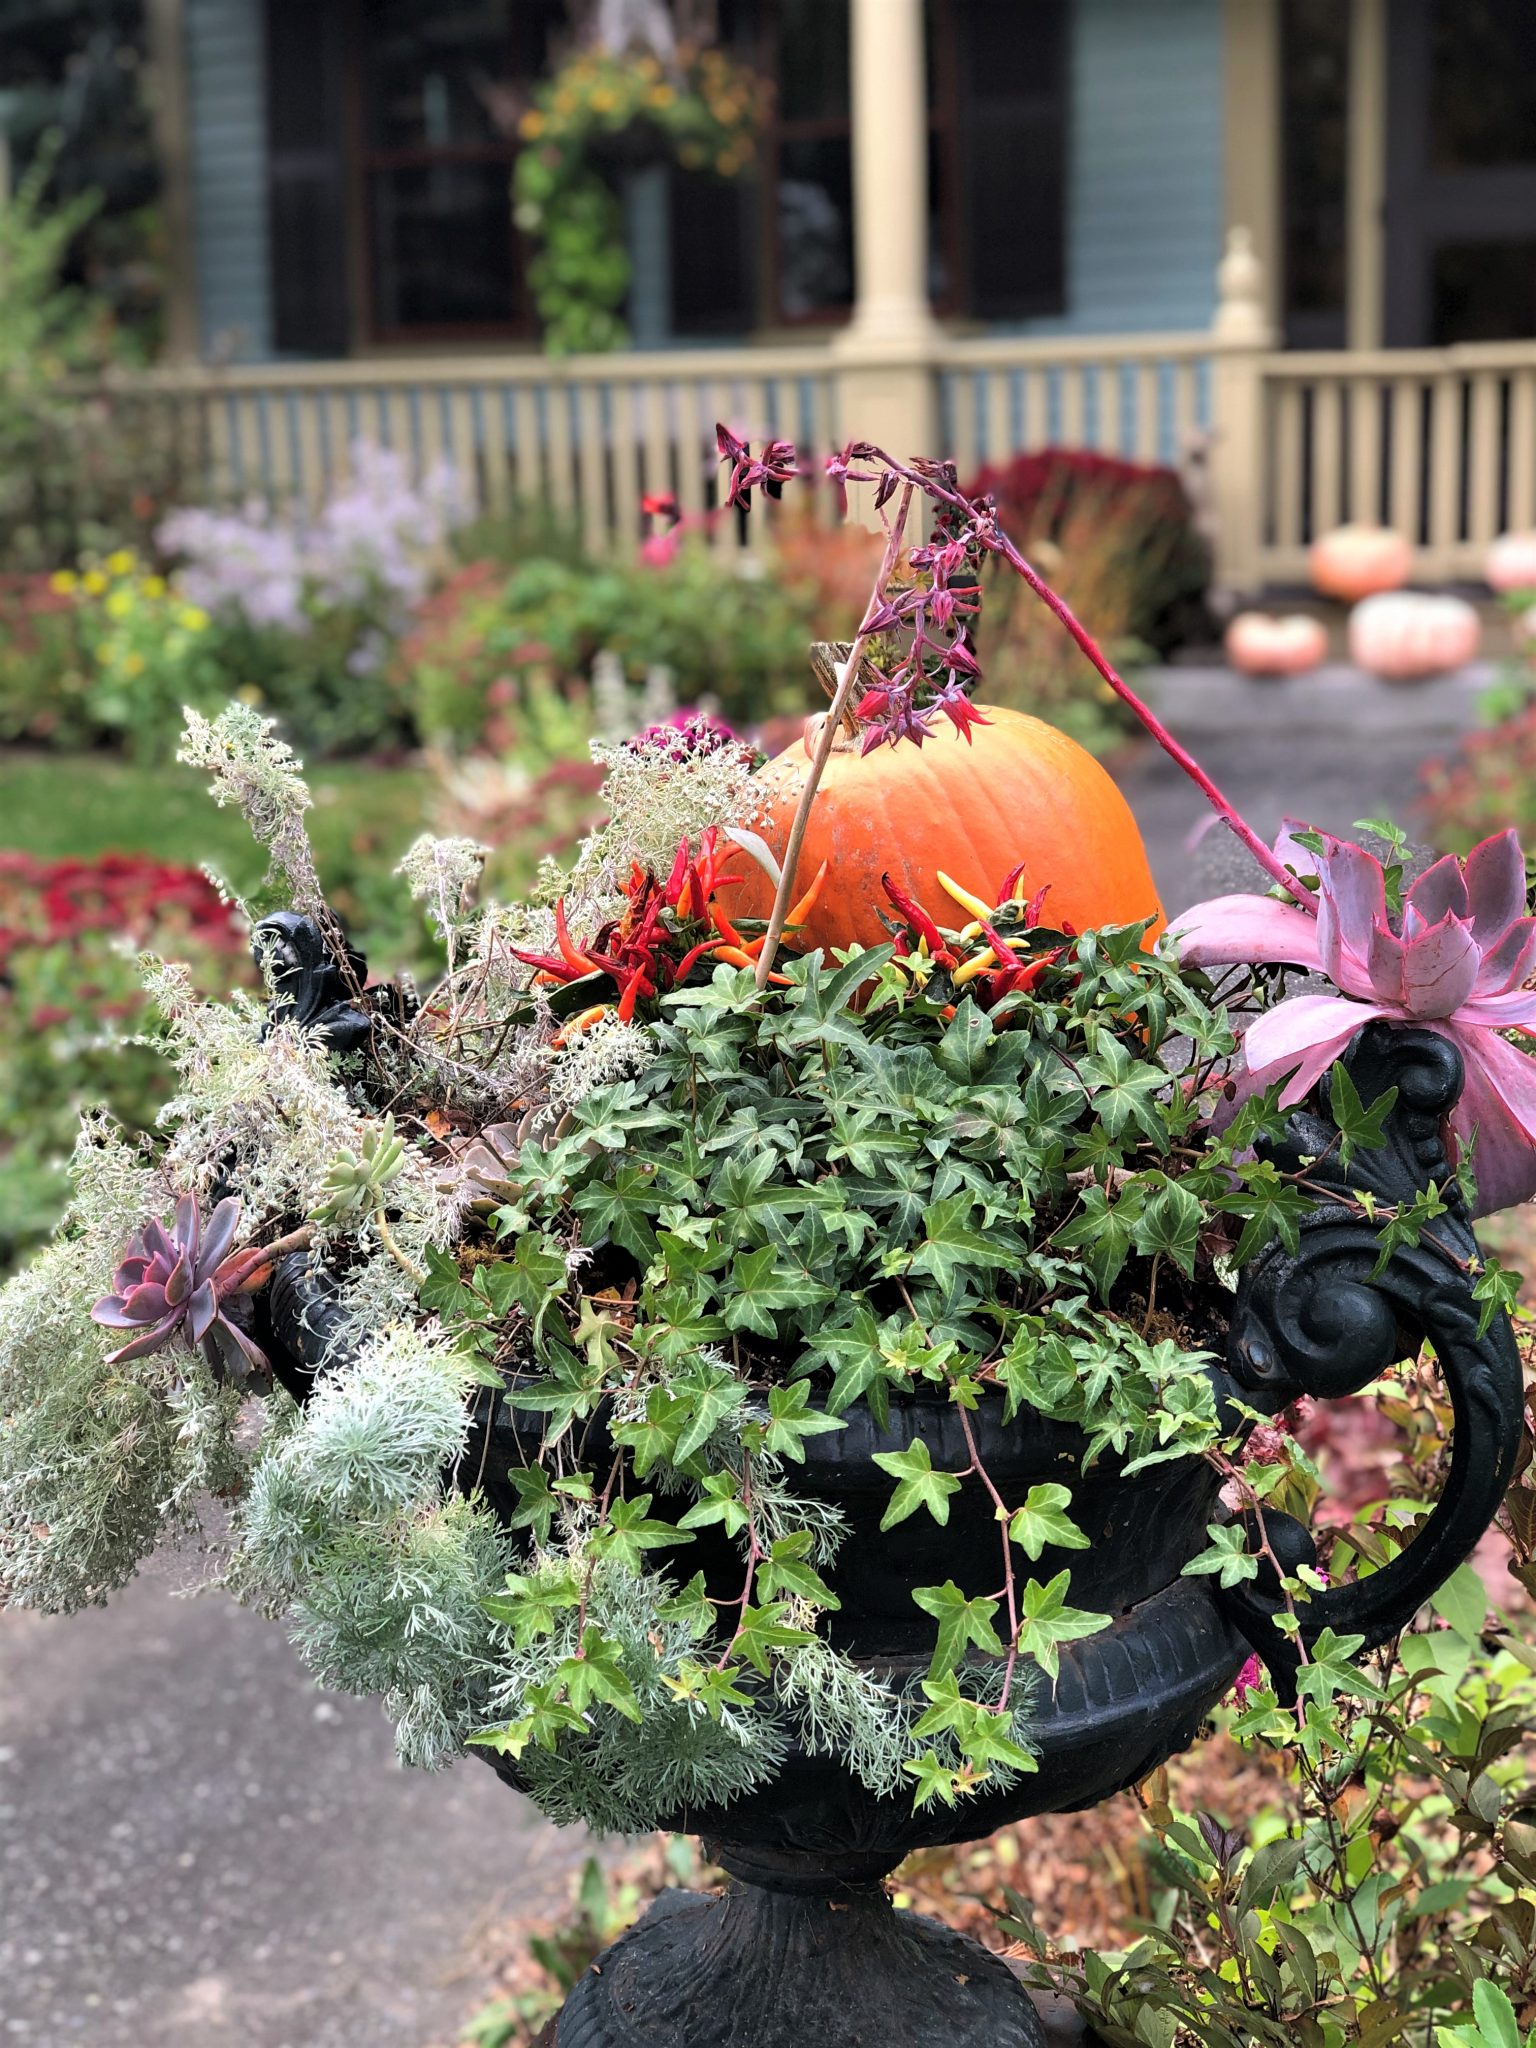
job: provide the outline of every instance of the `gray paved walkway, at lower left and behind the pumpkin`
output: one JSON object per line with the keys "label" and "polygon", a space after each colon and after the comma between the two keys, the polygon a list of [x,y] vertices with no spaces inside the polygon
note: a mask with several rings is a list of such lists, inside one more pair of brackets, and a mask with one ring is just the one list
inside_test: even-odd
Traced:
{"label": "gray paved walkway, at lower left and behind the pumpkin", "polygon": [[[1169,670],[1163,717],[1262,829],[1407,821],[1479,678],[1389,688]],[[1118,764],[1169,907],[1208,807],[1153,748]],[[0,2042],[422,2048],[477,1999],[485,1921],[543,1913],[586,1853],[477,1763],[395,1769],[377,1706],[317,1694],[283,1630],[174,1599],[0,1616]]]}

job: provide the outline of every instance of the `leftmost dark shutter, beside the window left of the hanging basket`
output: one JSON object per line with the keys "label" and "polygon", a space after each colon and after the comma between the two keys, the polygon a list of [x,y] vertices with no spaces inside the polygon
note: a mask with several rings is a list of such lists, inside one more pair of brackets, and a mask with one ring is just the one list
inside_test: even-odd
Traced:
{"label": "leftmost dark shutter, beside the window left of the hanging basket", "polygon": [[330,0],[266,0],[272,342],[285,354],[344,356],[352,340],[346,12]]}

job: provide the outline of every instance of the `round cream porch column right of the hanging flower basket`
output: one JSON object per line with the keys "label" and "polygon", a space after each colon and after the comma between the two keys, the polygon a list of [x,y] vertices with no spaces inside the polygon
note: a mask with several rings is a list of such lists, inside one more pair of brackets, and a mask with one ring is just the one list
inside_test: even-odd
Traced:
{"label": "round cream porch column right of the hanging flower basket", "polygon": [[838,434],[938,455],[924,0],[852,0],[850,37],[856,295],[834,342]]}

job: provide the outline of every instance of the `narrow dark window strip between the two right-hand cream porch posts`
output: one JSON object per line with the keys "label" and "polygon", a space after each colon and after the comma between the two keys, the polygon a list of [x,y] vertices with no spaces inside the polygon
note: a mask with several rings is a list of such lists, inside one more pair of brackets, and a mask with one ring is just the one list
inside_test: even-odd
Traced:
{"label": "narrow dark window strip between the two right-hand cream porch posts", "polygon": [[1350,10],[1286,0],[1280,16],[1284,319],[1292,348],[1346,336]]}

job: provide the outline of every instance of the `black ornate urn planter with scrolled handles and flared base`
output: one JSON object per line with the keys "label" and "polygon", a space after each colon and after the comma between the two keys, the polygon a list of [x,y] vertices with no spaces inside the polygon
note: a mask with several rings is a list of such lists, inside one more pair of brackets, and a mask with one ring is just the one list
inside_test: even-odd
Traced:
{"label": "black ornate urn planter with scrolled handles and flared base", "polygon": [[[287,1014],[356,1044],[365,1020],[338,1001],[319,963],[324,944],[289,940],[283,981]],[[317,934],[315,934],[317,938]],[[313,987],[309,985],[313,981]],[[1522,1370],[1509,1321],[1495,1315],[1479,1335],[1468,1264],[1470,1221],[1446,1159],[1446,1116],[1462,1087],[1462,1063],[1436,1032],[1368,1024],[1346,1065],[1362,1102],[1397,1087],[1386,1143],[1337,1163],[1319,1092],[1290,1118],[1282,1165],[1317,1161],[1321,1200],[1300,1225],[1294,1253],[1272,1245],[1221,1296],[1227,1354],[1210,1368],[1219,1399],[1276,1413],[1298,1395],[1331,1401],[1368,1386],[1430,1341],[1454,1409],[1444,1491],[1430,1520],[1374,1575],[1317,1593],[1300,1612],[1303,1642],[1323,1628],[1384,1642],[1470,1554],[1509,1485],[1522,1430]],[[1448,1212],[1419,1245],[1378,1264],[1378,1227],[1350,1196],[1399,1204],[1427,1184],[1448,1190]],[[266,1296],[272,1358],[303,1399],[326,1356],[334,1311],[324,1274],[303,1253],[283,1262]],[[508,1470],[537,1448],[526,1417],[496,1399],[477,1425],[467,1468],[492,1505],[510,1516]],[[975,1841],[1038,1812],[1094,1806],[1186,1749],[1251,1651],[1282,1698],[1294,1696],[1298,1651],[1276,1626],[1280,1587],[1266,1565],[1255,1581],[1223,1589],[1182,1577],[1206,1546],[1206,1524],[1223,1516],[1217,1473],[1198,1458],[1157,1464],[1128,1479],[1112,1460],[1081,1473],[1081,1434],[1020,1411],[1001,1421],[1001,1401],[975,1417],[983,1462],[1004,1497],[1063,1479],[1087,1550],[1047,1550],[1042,1573],[1071,1567],[1073,1604],[1112,1616],[1096,1636],[1061,1651],[1061,1675],[1040,1686],[1032,1741],[1038,1772],[1006,1790],[985,1786],[954,1808],[915,1812],[905,1798],[868,1792],[836,1759],[791,1753],[778,1776],[719,1808],[674,1812],[666,1825],[702,1835],[729,1874],[723,1894],[668,1892],[645,1919],[586,1972],[553,2034],[557,2048],[1044,2048],[1034,2005],[1014,1974],[983,1948],[913,1913],[897,1913],[883,1880],[911,1851]],[[827,1573],[842,1608],[834,1642],[881,1673],[915,1679],[928,1669],[932,1624],[913,1585],[952,1577],[967,1595],[995,1577],[993,1503],[977,1479],[952,1501],[944,1528],[918,1518],[881,1534],[889,1479],[881,1450],[928,1444],[936,1468],[971,1462],[954,1407],[942,1399],[891,1401],[887,1427],[862,1403],[846,1427],[805,1446],[803,1491],[836,1503],[848,1538]],[[1286,1571],[1315,1559],[1307,1530],[1266,1511],[1266,1542]],[[705,1565],[711,1591],[729,1597],[739,1563],[727,1544],[690,1546],[688,1571]],[[666,1556],[659,1556],[666,1565]],[[1266,1579],[1268,1571],[1268,1579]],[[489,1755],[516,1786],[516,1765]]]}

